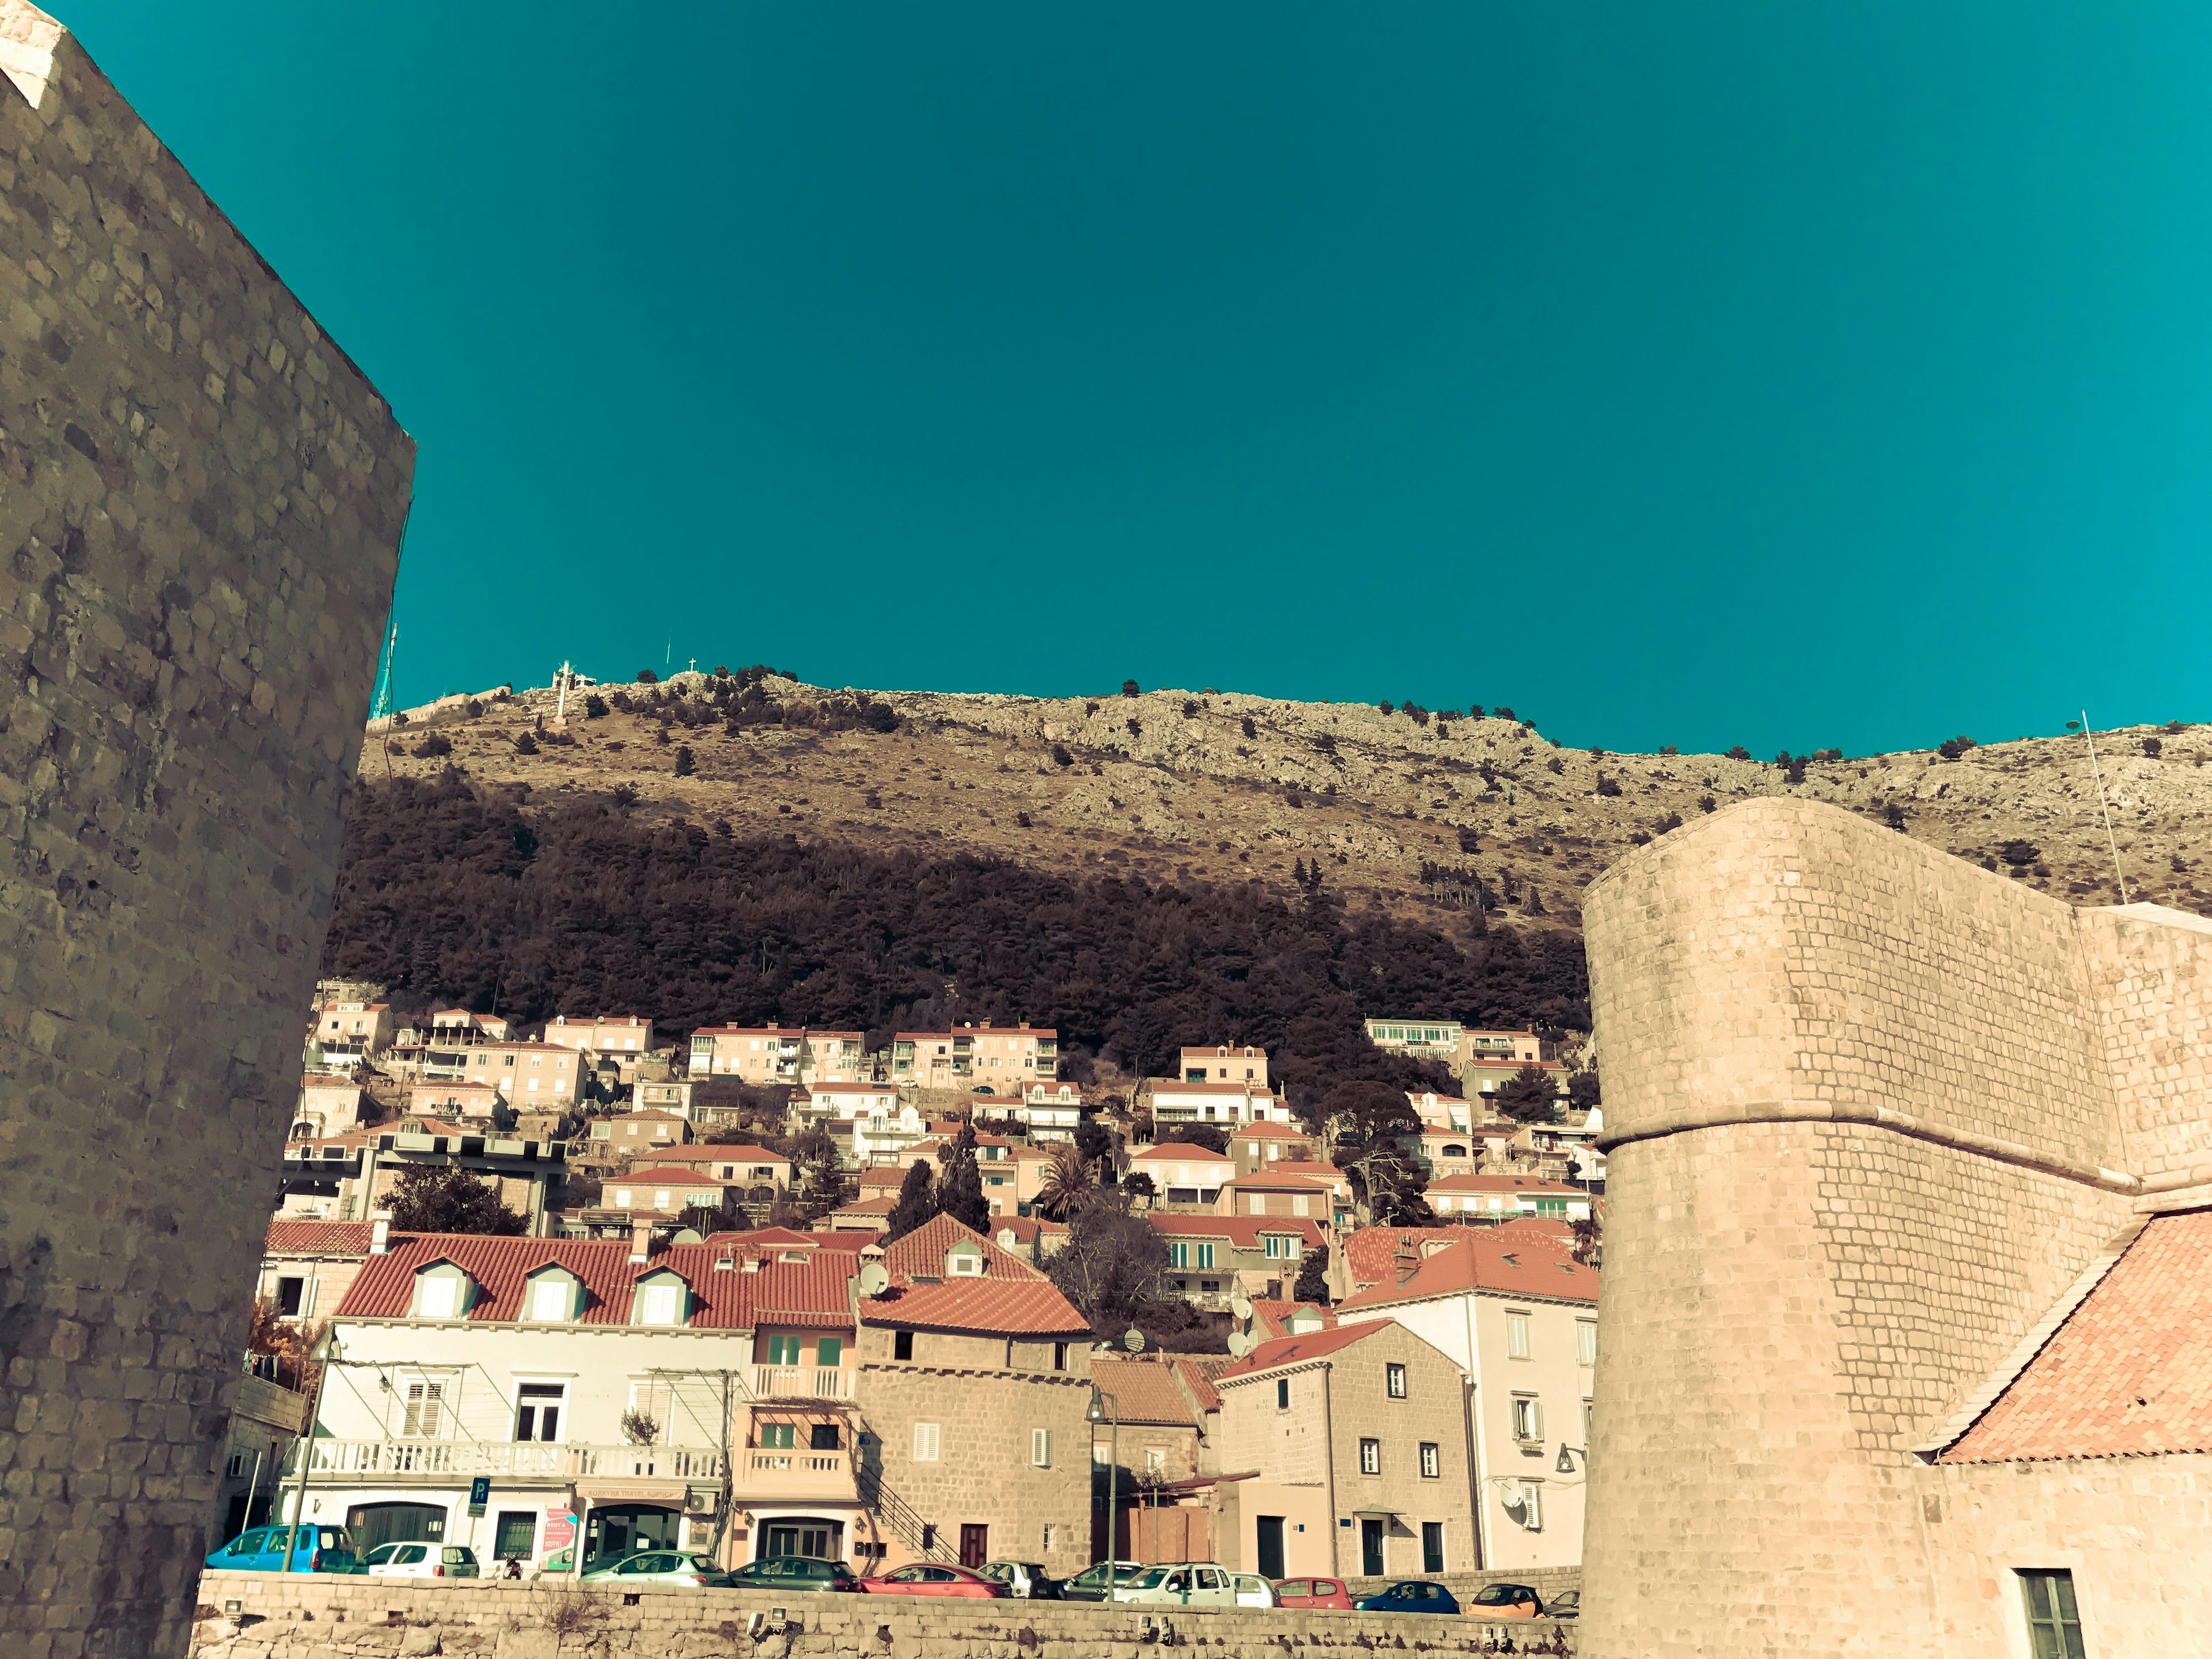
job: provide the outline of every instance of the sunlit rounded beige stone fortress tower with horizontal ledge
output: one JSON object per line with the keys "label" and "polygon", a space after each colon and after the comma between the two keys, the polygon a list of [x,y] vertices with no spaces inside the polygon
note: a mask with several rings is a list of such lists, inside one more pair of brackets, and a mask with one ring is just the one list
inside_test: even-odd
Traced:
{"label": "sunlit rounded beige stone fortress tower with horizontal ledge", "polygon": [[2028,1652],[2000,1568],[2097,1537],[2135,1540],[2104,1601],[2141,1628],[2090,1652],[2212,1646],[2170,1584],[2205,1577],[2205,1458],[1931,1464],[2130,1228],[2212,1203],[2212,922],[1796,799],[1632,854],[1584,916],[1613,1148],[1584,1652]]}

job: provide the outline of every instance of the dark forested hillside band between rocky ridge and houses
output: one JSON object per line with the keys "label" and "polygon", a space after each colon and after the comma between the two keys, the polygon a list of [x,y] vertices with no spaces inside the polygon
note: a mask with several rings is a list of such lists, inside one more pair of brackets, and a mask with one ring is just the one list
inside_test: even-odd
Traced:
{"label": "dark forested hillside band between rocky ridge and houses", "polygon": [[1256,883],[1066,876],[584,799],[544,810],[456,772],[363,785],[325,973],[409,1004],[520,1020],[650,1013],[699,1024],[942,1026],[1029,1020],[1137,1073],[1179,1044],[1259,1042],[1310,1102],[1345,1077],[1418,1079],[1360,1018],[1588,1024],[1582,940],[1447,936],[1347,914],[1327,874]]}

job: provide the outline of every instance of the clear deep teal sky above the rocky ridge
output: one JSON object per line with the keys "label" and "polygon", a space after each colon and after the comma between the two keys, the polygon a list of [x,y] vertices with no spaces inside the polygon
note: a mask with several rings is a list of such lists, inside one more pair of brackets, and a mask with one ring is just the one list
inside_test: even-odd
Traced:
{"label": "clear deep teal sky above the rocky ridge", "polygon": [[400,701],[2212,717],[2201,4],[55,11],[418,438]]}

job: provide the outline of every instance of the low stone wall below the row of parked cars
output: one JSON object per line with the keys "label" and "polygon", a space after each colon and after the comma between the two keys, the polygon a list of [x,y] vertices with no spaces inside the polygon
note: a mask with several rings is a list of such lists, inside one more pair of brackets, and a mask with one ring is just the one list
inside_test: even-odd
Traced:
{"label": "low stone wall below the row of parked cars", "polygon": [[[1135,1608],[1093,1601],[951,1601],[909,1595],[765,1595],[759,1590],[540,1590],[526,1584],[208,1573],[195,1659],[334,1655],[498,1655],[498,1659],[1139,1659],[1164,1646],[1223,1659],[1281,1659],[1290,1648],[1356,1652],[1575,1652],[1575,1626],[1548,1619],[1418,1619],[1301,1608]],[[237,1613],[226,1604],[239,1601]],[[785,1608],[792,1632],[748,1632]],[[1166,1619],[1172,1635],[1159,1637]],[[1148,1632],[1148,1626],[1152,1630]]]}

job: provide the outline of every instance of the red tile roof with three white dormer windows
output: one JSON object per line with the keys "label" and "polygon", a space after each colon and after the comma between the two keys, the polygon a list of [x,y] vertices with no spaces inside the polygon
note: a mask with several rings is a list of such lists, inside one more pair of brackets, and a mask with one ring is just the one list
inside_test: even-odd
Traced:
{"label": "red tile roof with three white dormer windows", "polygon": [[624,1239],[392,1234],[389,1254],[363,1263],[345,1301],[338,1303],[338,1318],[407,1318],[416,1272],[451,1261],[476,1283],[476,1301],[465,1316],[471,1325],[520,1318],[522,1287],[546,1265],[566,1267],[584,1281],[582,1325],[626,1325],[630,1285],[664,1267],[690,1285],[695,1329],[752,1329],[763,1318],[776,1325],[852,1325],[849,1256],[763,1265],[750,1274],[743,1267],[719,1272],[714,1261],[732,1252],[726,1245],[668,1245],[644,1265],[635,1265]]}

